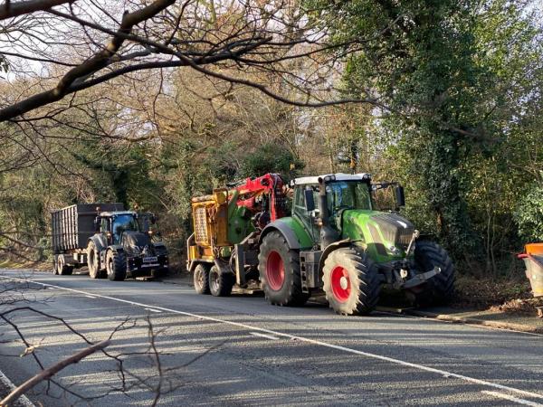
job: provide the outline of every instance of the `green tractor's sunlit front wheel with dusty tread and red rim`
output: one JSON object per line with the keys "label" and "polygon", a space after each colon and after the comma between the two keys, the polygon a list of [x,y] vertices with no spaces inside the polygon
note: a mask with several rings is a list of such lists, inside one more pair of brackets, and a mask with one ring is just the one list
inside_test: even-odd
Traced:
{"label": "green tractor's sunlit front wheel with dusty tread and red rim", "polygon": [[340,315],[366,315],[376,308],[381,291],[378,270],[366,253],[353,248],[332,251],[324,261],[324,292]]}

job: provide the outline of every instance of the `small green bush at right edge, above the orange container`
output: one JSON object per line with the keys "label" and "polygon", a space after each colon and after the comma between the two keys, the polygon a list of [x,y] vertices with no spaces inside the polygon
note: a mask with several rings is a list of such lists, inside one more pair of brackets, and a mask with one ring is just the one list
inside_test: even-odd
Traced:
{"label": "small green bush at right edge, above the orange container", "polygon": [[527,185],[514,213],[520,235],[528,241],[543,241],[543,185]]}

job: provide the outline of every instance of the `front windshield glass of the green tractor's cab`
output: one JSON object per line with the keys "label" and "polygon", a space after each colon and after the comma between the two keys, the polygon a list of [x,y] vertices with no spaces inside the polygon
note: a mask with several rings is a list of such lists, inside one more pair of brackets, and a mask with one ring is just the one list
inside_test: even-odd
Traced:
{"label": "front windshield glass of the green tractor's cab", "polygon": [[371,209],[371,194],[366,182],[336,181],[326,185],[329,212],[341,209]]}

